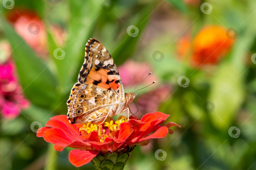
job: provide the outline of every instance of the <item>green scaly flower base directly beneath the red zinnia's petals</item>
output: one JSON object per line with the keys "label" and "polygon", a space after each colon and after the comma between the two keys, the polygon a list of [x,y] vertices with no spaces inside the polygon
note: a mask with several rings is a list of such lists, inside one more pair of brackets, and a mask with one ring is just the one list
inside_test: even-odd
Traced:
{"label": "green scaly flower base directly beneath the red zinnia's petals", "polygon": [[125,151],[100,154],[94,157],[91,162],[98,170],[123,170],[133,148],[128,148]]}

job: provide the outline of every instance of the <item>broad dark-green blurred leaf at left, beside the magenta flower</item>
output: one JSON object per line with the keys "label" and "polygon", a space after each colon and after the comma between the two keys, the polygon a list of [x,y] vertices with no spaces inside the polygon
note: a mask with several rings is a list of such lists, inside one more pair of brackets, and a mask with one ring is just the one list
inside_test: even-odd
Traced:
{"label": "broad dark-green blurred leaf at left, beside the magenta flower", "polygon": [[3,32],[13,49],[12,56],[25,95],[35,105],[52,105],[56,87],[56,80],[48,69],[52,62],[45,64],[2,16],[1,21]]}

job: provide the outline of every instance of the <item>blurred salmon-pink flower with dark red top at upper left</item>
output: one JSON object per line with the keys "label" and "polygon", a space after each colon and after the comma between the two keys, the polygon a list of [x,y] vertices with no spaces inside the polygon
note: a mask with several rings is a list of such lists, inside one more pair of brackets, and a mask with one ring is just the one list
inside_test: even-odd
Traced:
{"label": "blurred salmon-pink flower with dark red top at upper left", "polygon": [[44,22],[38,14],[28,9],[11,10],[7,15],[15,31],[42,58],[46,58],[47,34]]}

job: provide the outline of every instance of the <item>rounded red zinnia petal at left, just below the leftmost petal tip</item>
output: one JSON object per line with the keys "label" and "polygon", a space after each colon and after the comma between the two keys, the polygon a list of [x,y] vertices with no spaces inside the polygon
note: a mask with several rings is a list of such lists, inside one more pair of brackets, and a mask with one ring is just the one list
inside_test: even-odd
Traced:
{"label": "rounded red zinnia petal at left, just below the leftmost petal tip", "polygon": [[53,144],[70,144],[72,141],[61,129],[49,128],[45,131],[44,139]]}

